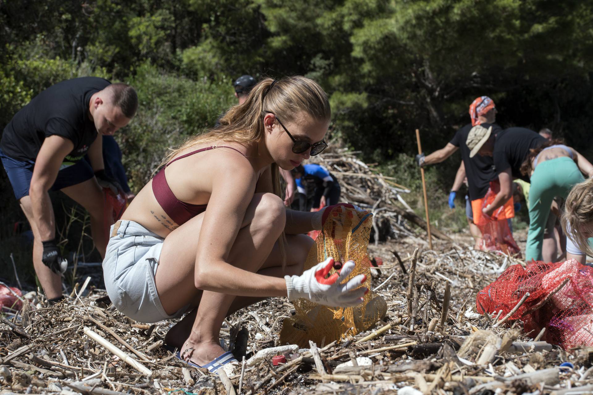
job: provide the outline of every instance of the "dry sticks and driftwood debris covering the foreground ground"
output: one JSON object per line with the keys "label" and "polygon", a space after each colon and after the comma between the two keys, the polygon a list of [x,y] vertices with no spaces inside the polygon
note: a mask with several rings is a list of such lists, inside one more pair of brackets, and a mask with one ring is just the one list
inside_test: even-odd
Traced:
{"label": "dry sticks and driftwood debris covering the foreground ground", "polygon": [[[388,304],[372,330],[306,349],[282,345],[282,320],[294,307],[270,298],[225,320],[220,337],[240,361],[228,375],[179,361],[161,346],[171,322],[133,322],[103,290],[90,287],[55,306],[25,303],[0,320],[0,393],[561,395],[593,388],[591,350],[568,353],[508,317],[474,313],[477,291],[515,261],[439,241],[441,252],[422,251],[410,240],[369,246],[384,262],[371,269],[372,286]],[[285,361],[273,364],[276,355]]]}

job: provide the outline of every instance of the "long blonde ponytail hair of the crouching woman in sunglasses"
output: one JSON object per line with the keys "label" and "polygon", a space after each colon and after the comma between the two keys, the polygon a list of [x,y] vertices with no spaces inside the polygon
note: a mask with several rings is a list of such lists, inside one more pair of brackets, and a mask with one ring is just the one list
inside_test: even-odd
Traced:
{"label": "long blonde ponytail hair of the crouching woman in sunglasses", "polygon": [[[243,104],[229,108],[219,119],[219,126],[189,137],[180,147],[170,149],[159,168],[164,166],[180,152],[199,144],[214,141],[256,143],[264,139],[263,118],[266,112],[279,115],[284,123],[294,121],[299,113],[310,115],[317,121],[329,121],[330,102],[326,92],[312,79],[304,76],[285,77],[276,81],[265,78],[251,89]],[[272,187],[274,194],[283,198],[284,188],[280,182],[278,165],[272,163]],[[279,239],[282,266],[286,265],[286,236],[282,232]]]}

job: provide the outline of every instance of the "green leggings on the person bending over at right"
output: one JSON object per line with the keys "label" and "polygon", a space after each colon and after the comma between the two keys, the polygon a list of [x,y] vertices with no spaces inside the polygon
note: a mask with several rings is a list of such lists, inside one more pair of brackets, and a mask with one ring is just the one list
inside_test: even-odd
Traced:
{"label": "green leggings on the person bending over at right", "polygon": [[584,181],[574,160],[568,156],[538,163],[531,176],[529,190],[529,233],[527,235],[527,262],[541,261],[544,229],[555,197],[566,198],[575,184]]}

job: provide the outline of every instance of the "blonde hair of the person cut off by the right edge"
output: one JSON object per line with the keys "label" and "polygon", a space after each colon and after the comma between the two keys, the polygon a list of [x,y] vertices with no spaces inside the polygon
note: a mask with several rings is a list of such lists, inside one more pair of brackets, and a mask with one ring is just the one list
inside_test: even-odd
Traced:
{"label": "blonde hair of the person cut off by the right edge", "polygon": [[582,225],[593,221],[593,178],[588,178],[572,188],[566,198],[561,221],[565,235],[583,253],[593,256],[588,239],[581,231]]}

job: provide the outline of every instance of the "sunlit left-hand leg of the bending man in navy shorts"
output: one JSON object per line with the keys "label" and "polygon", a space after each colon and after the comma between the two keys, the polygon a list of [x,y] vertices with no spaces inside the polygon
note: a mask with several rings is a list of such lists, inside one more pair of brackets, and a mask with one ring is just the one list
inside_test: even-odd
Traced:
{"label": "sunlit left-hand leg of the bending man in navy shorts", "polygon": [[36,222],[33,219],[33,208],[31,207],[31,198],[29,195],[24,196],[19,201],[25,217],[31,225],[33,231],[33,267],[39,282],[43,287],[45,296],[48,299],[53,299],[62,296],[62,276],[55,274],[52,270],[47,267],[42,261],[43,245],[39,235],[39,229],[37,229]]}

